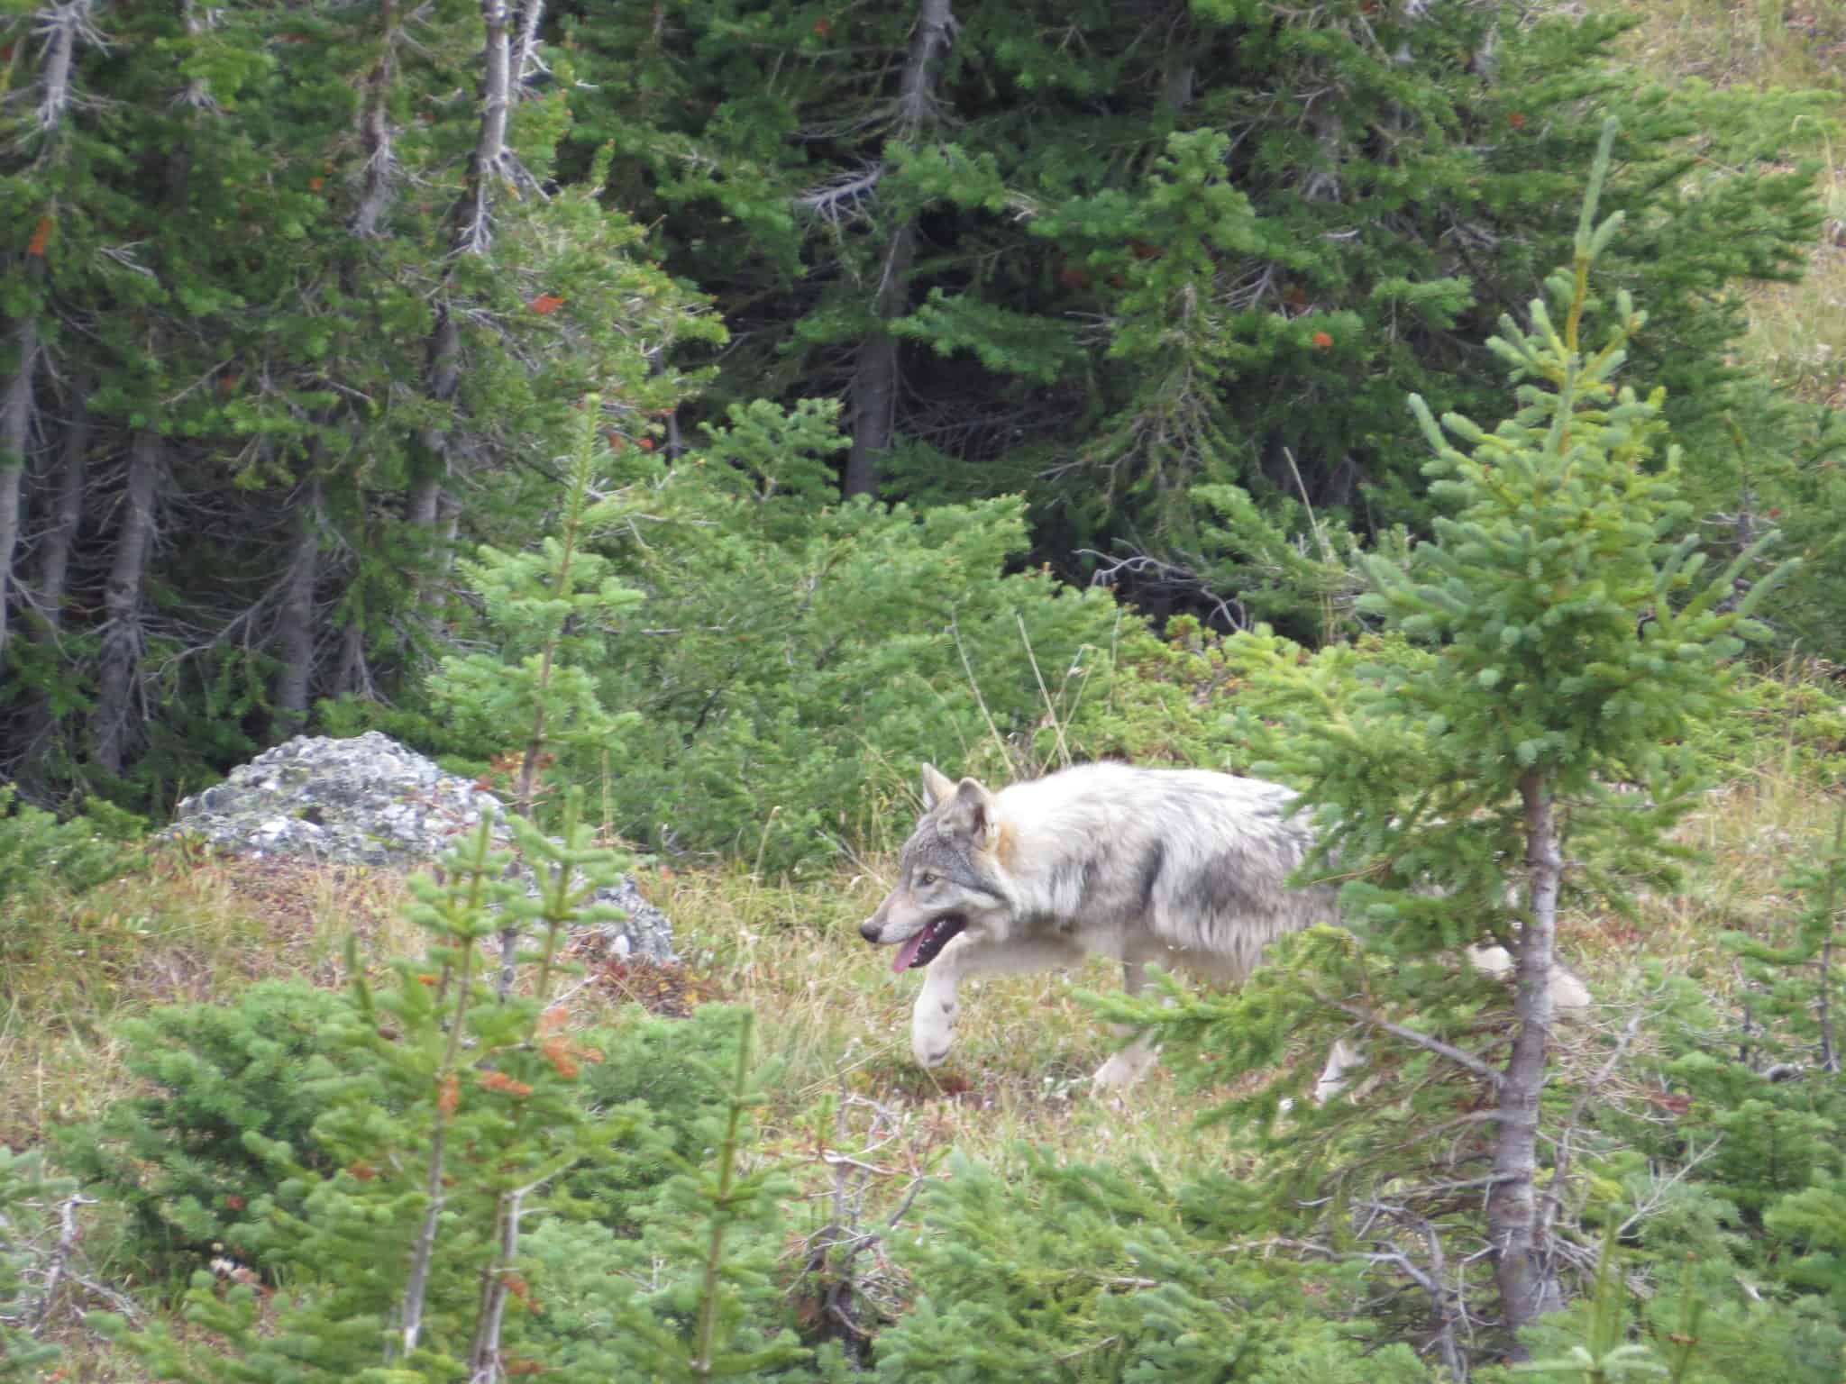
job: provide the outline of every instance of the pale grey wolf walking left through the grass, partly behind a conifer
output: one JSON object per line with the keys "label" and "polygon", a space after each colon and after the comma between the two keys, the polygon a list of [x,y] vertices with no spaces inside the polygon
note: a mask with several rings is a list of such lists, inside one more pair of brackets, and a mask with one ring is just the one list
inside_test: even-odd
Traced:
{"label": "pale grey wolf walking left through the grass, partly behind a conifer", "polygon": [[[897,947],[892,971],[923,969],[910,1013],[910,1052],[938,1067],[954,1037],[960,984],[999,971],[1050,971],[1085,956],[1122,963],[1141,991],[1145,967],[1242,982],[1277,937],[1337,921],[1333,884],[1289,886],[1314,845],[1294,792],[1207,770],[1082,764],[991,792],[923,768],[923,817],[899,856],[897,888],[860,926]],[[1504,950],[1469,949],[1486,974],[1506,974]],[[1560,1009],[1588,1004],[1560,976]],[[1097,1087],[1126,1087],[1152,1065],[1145,1037],[1109,1057]],[[1340,1041],[1314,1087],[1344,1089],[1362,1063]]]}

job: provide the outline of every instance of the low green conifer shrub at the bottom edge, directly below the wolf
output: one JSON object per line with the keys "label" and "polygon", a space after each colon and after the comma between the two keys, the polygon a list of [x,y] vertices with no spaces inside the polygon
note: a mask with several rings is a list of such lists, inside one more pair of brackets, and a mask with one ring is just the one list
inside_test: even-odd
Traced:
{"label": "low green conifer shrub at the bottom edge, directly below the wolf", "polygon": [[895,1246],[917,1303],[879,1332],[879,1378],[1434,1378],[1353,1319],[1364,1290],[1351,1266],[1237,1249],[1268,1229],[1233,1181],[1169,1187],[1145,1166],[1026,1157],[1019,1179],[956,1157],[925,1194],[919,1229]]}

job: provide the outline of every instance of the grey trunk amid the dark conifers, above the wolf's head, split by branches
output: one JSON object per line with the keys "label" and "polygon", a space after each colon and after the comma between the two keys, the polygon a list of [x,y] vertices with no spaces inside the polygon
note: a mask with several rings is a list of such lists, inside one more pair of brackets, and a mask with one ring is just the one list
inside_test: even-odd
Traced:
{"label": "grey trunk amid the dark conifers, above the wolf's head, split by branches", "polygon": [[[921,0],[916,28],[910,31],[910,55],[905,59],[905,74],[897,89],[897,138],[914,142],[938,122],[936,78],[940,59],[951,42],[954,42],[954,13],[949,9],[949,0]],[[910,266],[916,260],[916,218],[905,218],[892,233],[879,273],[879,288],[873,295],[877,321],[860,341],[858,358],[853,362],[849,389],[853,450],[845,458],[844,483],[847,498],[877,495],[879,458],[892,447],[901,378],[897,338],[892,336],[888,323],[903,316],[910,303]]]}

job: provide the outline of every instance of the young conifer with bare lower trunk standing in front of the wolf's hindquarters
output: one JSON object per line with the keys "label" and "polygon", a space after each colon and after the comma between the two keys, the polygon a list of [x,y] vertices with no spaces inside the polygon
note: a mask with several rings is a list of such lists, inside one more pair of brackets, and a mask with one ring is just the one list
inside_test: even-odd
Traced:
{"label": "young conifer with bare lower trunk standing in front of the wolf's hindquarters", "polygon": [[[1322,1207],[1307,1233],[1335,1253],[1361,1222],[1373,1236],[1408,1227],[1372,1259],[1421,1284],[1403,1329],[1434,1342],[1451,1373],[1466,1369],[1460,1323],[1492,1316],[1475,1295],[1497,1297],[1497,1349],[1516,1354],[1517,1330],[1565,1295],[1567,1168],[1543,1166],[1554,1144],[1541,1129],[1560,904],[1671,877],[1667,830],[1695,801],[1685,729],[1728,703],[1730,661],[1767,633],[1750,611],[1787,570],[1739,594],[1772,535],[1717,578],[1702,574],[1696,533],[1678,537],[1689,506],[1678,450],[1656,450],[1663,395],[1617,382],[1645,316],[1626,292],[1591,293],[1621,227],[1597,221],[1615,135],[1602,131],[1573,262],[1547,280],[1552,306],[1534,301],[1527,327],[1503,319],[1490,341],[1517,412],[1493,430],[1455,413],[1438,426],[1410,399],[1447,513],[1405,565],[1366,559],[1375,651],[1303,662],[1266,631],[1239,642],[1250,699],[1290,725],[1272,734],[1276,771],[1305,784],[1364,947],[1311,934],[1277,947],[1241,996],[1154,1015],[1170,1050],[1217,1052],[1218,1074],[1226,1054],[1257,1067],[1300,1052],[1329,1015],[1366,1035],[1373,1068],[1397,1072],[1408,1113],[1298,1102],[1292,1120],[1325,1137],[1279,1148],[1277,1183],[1314,1177],[1325,1196],[1290,1183],[1277,1203]],[[1510,952],[1510,1015],[1492,982],[1453,965],[1473,943]],[[1394,1022],[1405,1009],[1414,1020]],[[1274,1111],[1277,1089],[1246,1105]],[[1466,1270],[1480,1247],[1492,1294]],[[1591,1249],[1578,1249],[1584,1262]]]}

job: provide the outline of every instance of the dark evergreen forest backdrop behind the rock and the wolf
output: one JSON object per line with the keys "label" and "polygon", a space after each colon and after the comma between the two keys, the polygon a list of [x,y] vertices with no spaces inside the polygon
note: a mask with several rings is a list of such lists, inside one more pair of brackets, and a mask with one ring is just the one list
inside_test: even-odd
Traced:
{"label": "dark evergreen forest backdrop behind the rock and the wolf", "polygon": [[[995,585],[1021,557],[1154,614],[1349,631],[1351,535],[1431,515],[1401,400],[1492,397],[1480,343],[1567,242],[1597,105],[1626,122],[1612,284],[1650,303],[1702,513],[1746,544],[1837,504],[1829,430],[1730,356],[1730,290],[1815,227],[1780,140],[1816,107],[1636,89],[1608,18],[6,13],[0,727],[42,805],[164,808],[310,722],[439,744],[426,675],[504,637],[476,548],[526,561],[591,393],[674,491],[605,554],[648,600],[585,622],[600,705],[674,722],[615,803],[648,843],[738,843],[762,797],[783,860],[860,830],[866,746],[971,746],[969,681],[1030,734],[1023,646],[1056,696],[1113,622]],[[1833,567],[1791,598],[1828,646]],[[882,710],[879,661],[930,692]],[[834,762],[775,764],[821,707]]]}

